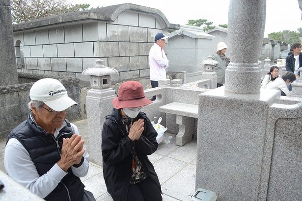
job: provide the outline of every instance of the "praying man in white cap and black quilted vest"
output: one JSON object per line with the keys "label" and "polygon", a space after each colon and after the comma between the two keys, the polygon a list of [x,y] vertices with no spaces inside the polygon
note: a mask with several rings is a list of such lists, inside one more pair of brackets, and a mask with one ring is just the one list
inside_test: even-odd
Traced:
{"label": "praying man in white cap and black quilted vest", "polygon": [[67,110],[78,104],[53,78],[36,81],[29,97],[27,120],[7,137],[7,174],[47,201],[95,201],[80,179],[89,168],[84,140],[66,120]]}

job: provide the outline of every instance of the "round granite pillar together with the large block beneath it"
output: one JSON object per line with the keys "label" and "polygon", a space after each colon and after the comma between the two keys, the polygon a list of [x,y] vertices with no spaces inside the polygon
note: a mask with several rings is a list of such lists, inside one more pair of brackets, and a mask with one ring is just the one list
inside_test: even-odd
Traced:
{"label": "round granite pillar together with the large block beneath it", "polygon": [[265,0],[230,0],[226,83],[199,95],[195,188],[217,201],[259,201],[268,110],[280,97],[260,94],[265,10]]}

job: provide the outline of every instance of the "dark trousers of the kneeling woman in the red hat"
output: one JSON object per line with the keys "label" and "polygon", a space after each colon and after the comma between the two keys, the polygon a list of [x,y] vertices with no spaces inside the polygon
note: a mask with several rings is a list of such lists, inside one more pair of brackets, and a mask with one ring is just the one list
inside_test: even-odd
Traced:
{"label": "dark trousers of the kneeling woman in the red hat", "polygon": [[127,201],[163,201],[160,188],[148,176],[137,184],[129,185]]}

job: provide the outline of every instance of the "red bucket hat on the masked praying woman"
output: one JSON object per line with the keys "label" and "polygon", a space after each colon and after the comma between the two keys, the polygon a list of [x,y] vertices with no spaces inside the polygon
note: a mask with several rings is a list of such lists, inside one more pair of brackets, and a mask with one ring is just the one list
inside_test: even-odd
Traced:
{"label": "red bucket hat on the masked praying woman", "polygon": [[113,107],[134,108],[142,107],[152,103],[145,97],[142,85],[137,81],[127,81],[121,84],[118,89],[117,97],[112,100]]}

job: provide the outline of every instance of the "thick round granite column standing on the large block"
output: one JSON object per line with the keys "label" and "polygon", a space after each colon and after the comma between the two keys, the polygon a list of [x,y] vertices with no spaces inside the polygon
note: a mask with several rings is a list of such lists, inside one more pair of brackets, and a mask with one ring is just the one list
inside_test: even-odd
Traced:
{"label": "thick round granite column standing on the large block", "polygon": [[231,63],[225,71],[225,91],[260,93],[259,53],[265,26],[265,0],[231,0],[228,14],[228,44]]}

